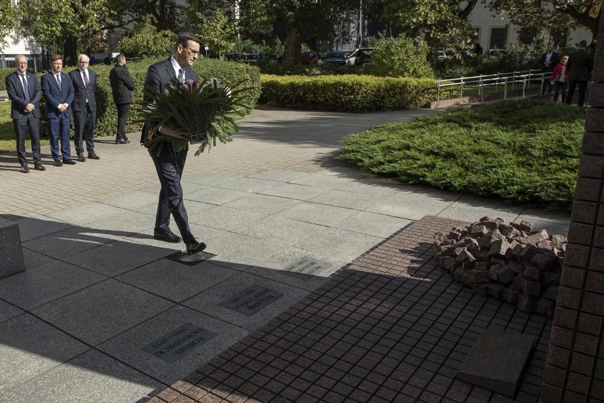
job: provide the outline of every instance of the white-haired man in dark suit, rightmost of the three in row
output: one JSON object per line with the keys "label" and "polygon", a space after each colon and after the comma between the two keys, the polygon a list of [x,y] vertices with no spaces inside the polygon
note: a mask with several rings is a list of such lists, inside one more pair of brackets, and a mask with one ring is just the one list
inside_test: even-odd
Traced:
{"label": "white-haired man in dark suit, rightmost of the three in row", "polygon": [[77,160],[84,162],[84,147],[82,138],[86,138],[86,151],[88,158],[99,160],[99,156],[94,153],[94,125],[96,123],[96,98],[94,91],[96,89],[96,73],[88,70],[89,57],[79,55],[77,64],[79,68],[69,72],[74,83],[74,101],[72,109],[74,112],[74,145],[77,153]]}

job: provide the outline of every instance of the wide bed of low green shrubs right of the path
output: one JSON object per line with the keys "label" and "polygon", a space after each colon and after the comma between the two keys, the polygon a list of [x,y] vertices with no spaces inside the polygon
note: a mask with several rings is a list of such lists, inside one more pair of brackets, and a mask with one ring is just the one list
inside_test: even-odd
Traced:
{"label": "wide bed of low green shrubs right of the path", "polygon": [[340,158],[405,183],[571,209],[585,115],[548,101],[498,101],[348,136]]}

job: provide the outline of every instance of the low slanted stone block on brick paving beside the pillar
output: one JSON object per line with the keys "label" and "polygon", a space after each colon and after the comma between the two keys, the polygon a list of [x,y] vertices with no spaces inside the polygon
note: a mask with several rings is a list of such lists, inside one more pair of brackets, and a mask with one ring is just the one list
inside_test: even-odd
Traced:
{"label": "low slanted stone block on brick paving beside the pillar", "polygon": [[487,329],[476,340],[457,379],[514,397],[535,348],[535,336]]}

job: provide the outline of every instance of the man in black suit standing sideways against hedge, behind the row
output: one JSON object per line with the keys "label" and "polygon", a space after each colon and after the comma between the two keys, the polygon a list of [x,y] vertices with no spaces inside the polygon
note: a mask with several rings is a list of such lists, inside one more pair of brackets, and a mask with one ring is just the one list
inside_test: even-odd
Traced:
{"label": "man in black suit standing sideways against hedge, behind the row", "polygon": [[116,57],[116,67],[109,72],[109,81],[111,82],[111,92],[113,93],[113,103],[118,109],[118,134],[116,144],[130,143],[125,135],[125,124],[130,114],[130,104],[132,104],[132,92],[134,91],[134,80],[125,68],[125,56],[121,53]]}

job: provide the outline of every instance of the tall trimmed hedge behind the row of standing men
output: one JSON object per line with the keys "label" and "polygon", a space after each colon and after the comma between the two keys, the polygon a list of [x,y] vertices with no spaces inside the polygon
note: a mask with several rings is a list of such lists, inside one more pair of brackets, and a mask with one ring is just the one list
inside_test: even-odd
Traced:
{"label": "tall trimmed hedge behind the row of standing men", "polygon": [[[126,124],[126,133],[135,133],[142,130],[142,123],[135,123],[141,119],[140,105],[142,103],[142,87],[145,85],[145,77],[147,69],[152,63],[160,59],[145,59],[138,62],[128,62],[128,71],[135,83],[135,90],[132,94],[133,104],[130,107],[130,116]],[[65,67],[64,72],[70,72],[75,67]],[[92,65],[90,70],[96,72],[96,136],[115,136],[118,127],[118,111],[113,104],[113,96],[111,95],[111,83],[109,82],[109,72],[113,66]],[[247,87],[250,87],[250,105],[249,111],[254,109],[260,94],[260,72],[257,67],[245,65],[243,63],[231,63],[221,60],[203,59],[198,60],[193,69],[198,75],[200,81],[206,81],[212,77],[216,77],[225,83],[235,83],[241,80],[247,81]],[[4,77],[15,71],[14,68],[0,70],[1,84],[0,89],[4,88]],[[3,75],[4,74],[4,75]],[[38,82],[42,74],[38,74]],[[43,101],[40,102],[40,107],[43,107]],[[45,123],[45,122],[43,122]],[[73,125],[72,125],[73,126]],[[45,124],[43,124],[42,132],[46,133]],[[73,133],[73,127],[72,127]]]}

